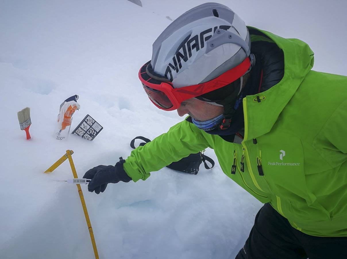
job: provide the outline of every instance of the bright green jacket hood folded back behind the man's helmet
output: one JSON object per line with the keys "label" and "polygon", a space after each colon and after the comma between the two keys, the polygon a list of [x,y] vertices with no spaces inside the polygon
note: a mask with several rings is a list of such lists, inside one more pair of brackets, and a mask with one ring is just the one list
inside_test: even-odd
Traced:
{"label": "bright green jacket hood folded back behind the man's helmet", "polygon": [[[283,78],[273,87],[260,94],[248,95],[243,99],[245,116],[244,140],[268,133],[280,113],[313,66],[313,51],[303,41],[285,39],[267,31],[248,27],[251,40],[274,42],[283,51]],[[265,71],[264,71],[265,74]]]}

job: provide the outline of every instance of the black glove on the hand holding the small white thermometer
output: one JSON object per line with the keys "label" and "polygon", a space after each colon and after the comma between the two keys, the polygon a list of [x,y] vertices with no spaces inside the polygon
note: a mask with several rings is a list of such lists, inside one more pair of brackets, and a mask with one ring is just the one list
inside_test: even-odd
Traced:
{"label": "black glove on the hand holding the small white thermometer", "polygon": [[98,165],[88,170],[83,178],[92,179],[88,184],[88,191],[99,194],[104,192],[107,184],[116,184],[119,181],[128,183],[132,180],[123,169],[125,160],[119,157],[120,161],[113,165]]}

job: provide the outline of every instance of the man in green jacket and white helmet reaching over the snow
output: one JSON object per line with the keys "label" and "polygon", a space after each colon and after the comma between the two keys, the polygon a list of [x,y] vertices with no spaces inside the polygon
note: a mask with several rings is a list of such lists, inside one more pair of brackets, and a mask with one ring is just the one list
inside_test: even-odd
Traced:
{"label": "man in green jacket and white helmet reaching over the snow", "polygon": [[206,147],[265,203],[236,258],[347,258],[347,78],[311,70],[298,39],[197,6],[153,43],[139,79],[152,103],[189,116],[126,160],[86,172],[88,190],[145,180]]}

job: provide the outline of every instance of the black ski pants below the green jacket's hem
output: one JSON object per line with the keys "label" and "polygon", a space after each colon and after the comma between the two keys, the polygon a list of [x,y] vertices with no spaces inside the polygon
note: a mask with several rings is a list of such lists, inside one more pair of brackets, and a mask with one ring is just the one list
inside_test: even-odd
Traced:
{"label": "black ski pants below the green jacket's hem", "polygon": [[263,258],[346,259],[347,237],[306,235],[266,203],[257,213],[246,244],[236,256],[236,259]]}

